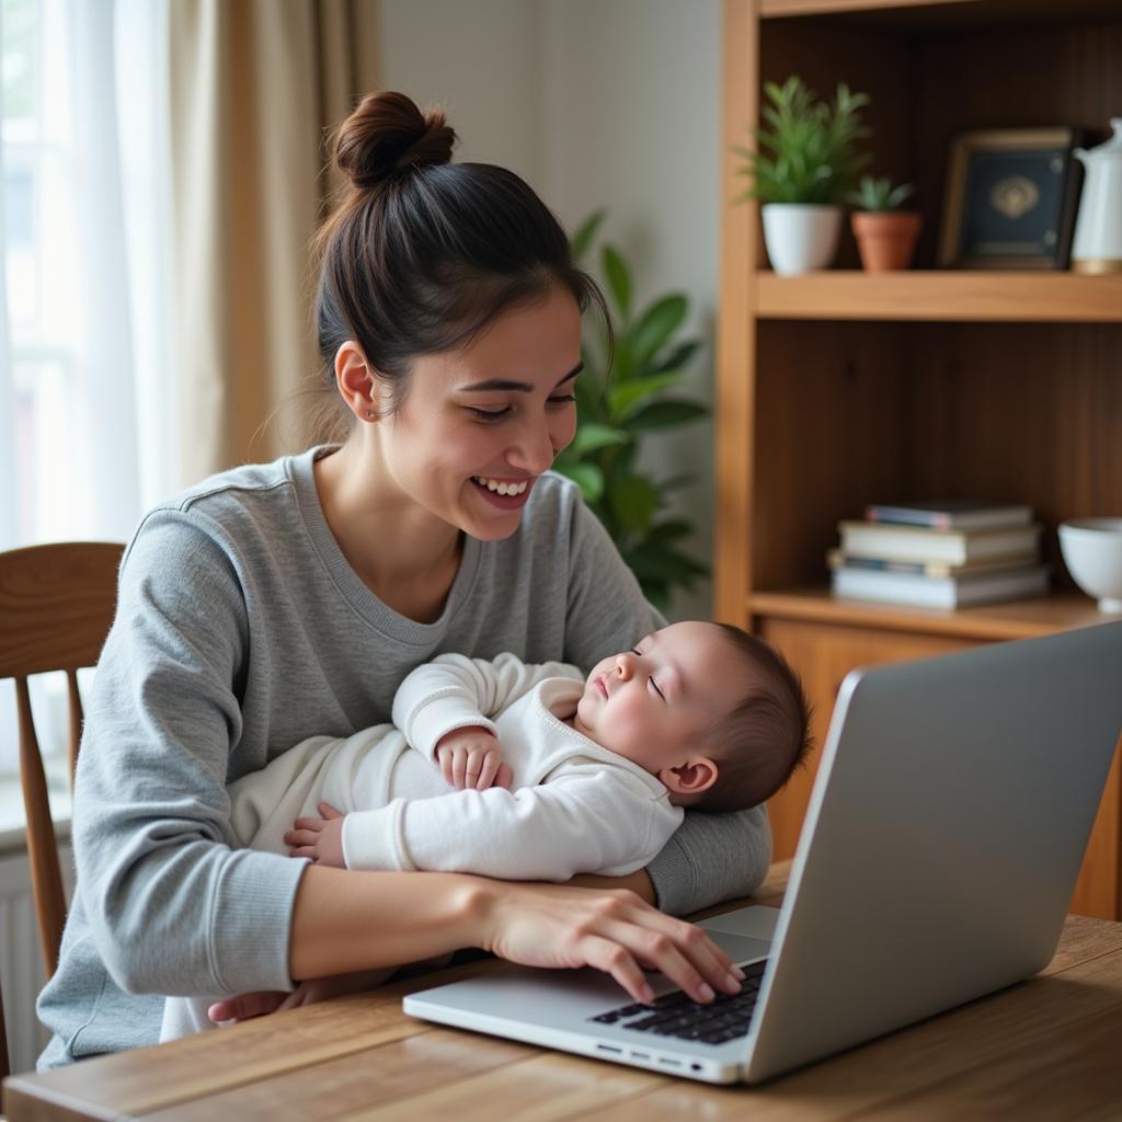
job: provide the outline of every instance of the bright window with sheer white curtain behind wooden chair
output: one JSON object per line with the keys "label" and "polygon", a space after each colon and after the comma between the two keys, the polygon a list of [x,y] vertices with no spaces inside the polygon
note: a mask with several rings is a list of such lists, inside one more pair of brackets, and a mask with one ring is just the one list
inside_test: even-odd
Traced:
{"label": "bright window with sheer white curtain behind wooden chair", "polygon": [[[127,541],[175,489],[166,21],[166,0],[0,0],[0,549]],[[64,697],[33,683],[56,758]],[[0,774],[15,737],[0,682]]]}

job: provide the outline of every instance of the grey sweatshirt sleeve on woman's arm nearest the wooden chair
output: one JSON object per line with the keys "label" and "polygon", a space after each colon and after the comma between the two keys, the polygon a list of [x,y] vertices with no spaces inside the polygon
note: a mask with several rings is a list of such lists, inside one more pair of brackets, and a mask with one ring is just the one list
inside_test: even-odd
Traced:
{"label": "grey sweatshirt sleeve on woman's arm nearest the wooden chair", "polygon": [[128,992],[289,984],[300,864],[230,848],[226,781],[242,734],[232,683],[247,649],[230,557],[201,521],[151,515],[126,554],[75,783],[90,936]]}

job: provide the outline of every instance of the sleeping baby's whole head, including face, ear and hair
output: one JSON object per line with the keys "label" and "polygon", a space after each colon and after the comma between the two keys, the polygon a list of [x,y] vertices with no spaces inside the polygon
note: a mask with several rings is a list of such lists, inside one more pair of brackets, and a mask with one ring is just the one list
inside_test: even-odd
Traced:
{"label": "sleeping baby's whole head, including face, ear and hair", "polygon": [[771,798],[809,748],[787,661],[726,624],[671,624],[592,669],[574,726],[656,775],[671,801],[741,810]]}

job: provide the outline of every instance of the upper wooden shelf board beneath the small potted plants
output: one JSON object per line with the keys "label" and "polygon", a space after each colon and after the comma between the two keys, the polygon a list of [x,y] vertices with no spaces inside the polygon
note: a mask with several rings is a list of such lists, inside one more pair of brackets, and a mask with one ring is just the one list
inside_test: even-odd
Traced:
{"label": "upper wooden shelf board beneath the small potted plants", "polygon": [[755,311],[765,320],[898,320],[1010,323],[1122,323],[1122,273],[829,270],[756,275]]}

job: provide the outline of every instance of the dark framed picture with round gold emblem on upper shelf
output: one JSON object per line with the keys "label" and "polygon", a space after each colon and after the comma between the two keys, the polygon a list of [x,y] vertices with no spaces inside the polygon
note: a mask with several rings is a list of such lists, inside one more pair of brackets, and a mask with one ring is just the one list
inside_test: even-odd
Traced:
{"label": "dark framed picture with round gold emblem on upper shelf", "polygon": [[1066,269],[1077,203],[1078,129],[990,129],[955,137],[940,265]]}

